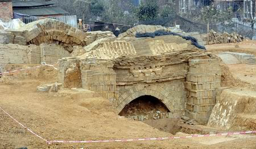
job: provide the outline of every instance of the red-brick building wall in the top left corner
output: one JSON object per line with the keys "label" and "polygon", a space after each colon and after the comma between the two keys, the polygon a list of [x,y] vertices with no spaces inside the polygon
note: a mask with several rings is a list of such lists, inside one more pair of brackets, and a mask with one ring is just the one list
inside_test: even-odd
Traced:
{"label": "red-brick building wall in the top left corner", "polygon": [[13,3],[11,0],[0,0],[0,19],[13,19]]}

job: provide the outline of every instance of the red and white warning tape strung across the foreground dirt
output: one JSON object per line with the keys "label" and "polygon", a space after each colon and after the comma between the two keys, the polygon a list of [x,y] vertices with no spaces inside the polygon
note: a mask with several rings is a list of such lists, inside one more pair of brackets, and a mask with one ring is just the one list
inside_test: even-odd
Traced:
{"label": "red and white warning tape strung across the foreground dirt", "polygon": [[206,136],[225,136],[225,135],[237,135],[237,134],[253,134],[256,133],[255,131],[243,131],[237,133],[222,133],[222,134],[207,134],[207,135],[189,135],[189,136],[170,136],[170,137],[159,137],[159,138],[139,138],[139,139],[110,139],[110,140],[47,140],[44,139],[42,136],[34,133],[32,130],[28,129],[26,126],[22,125],[22,123],[18,122],[15,118],[13,118],[9,113],[3,110],[1,107],[0,109],[9,115],[15,122],[17,122],[20,126],[24,129],[27,129],[31,134],[34,134],[38,138],[44,140],[47,144],[52,143],[107,143],[107,142],[134,142],[134,141],[143,141],[143,140],[166,140],[166,139],[184,139],[184,138],[195,138],[195,137],[206,137]]}

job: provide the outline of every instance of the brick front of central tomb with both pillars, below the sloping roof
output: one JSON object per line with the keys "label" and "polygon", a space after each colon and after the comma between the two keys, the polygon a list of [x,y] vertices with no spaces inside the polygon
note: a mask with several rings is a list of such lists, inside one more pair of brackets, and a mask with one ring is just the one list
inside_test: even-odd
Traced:
{"label": "brick front of central tomb with both pillars, below the sloping roof", "polygon": [[66,88],[82,87],[101,94],[117,112],[148,95],[162,101],[173,115],[185,113],[199,123],[207,123],[221,82],[219,61],[183,52],[115,60],[65,57],[59,61],[59,82]]}

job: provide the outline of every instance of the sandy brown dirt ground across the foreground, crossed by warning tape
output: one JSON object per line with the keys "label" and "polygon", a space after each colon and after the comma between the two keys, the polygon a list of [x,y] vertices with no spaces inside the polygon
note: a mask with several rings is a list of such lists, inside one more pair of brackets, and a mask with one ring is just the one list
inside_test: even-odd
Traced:
{"label": "sandy brown dirt ground across the foreground, crossed by warning tape", "polygon": [[[143,122],[119,118],[108,100],[39,93],[36,86],[56,81],[57,71],[39,68],[4,77],[0,107],[48,140],[102,140],[173,136]],[[175,136],[187,134],[177,133]],[[51,144],[20,127],[0,110],[0,148],[256,148],[256,135],[214,136],[144,142]]]}

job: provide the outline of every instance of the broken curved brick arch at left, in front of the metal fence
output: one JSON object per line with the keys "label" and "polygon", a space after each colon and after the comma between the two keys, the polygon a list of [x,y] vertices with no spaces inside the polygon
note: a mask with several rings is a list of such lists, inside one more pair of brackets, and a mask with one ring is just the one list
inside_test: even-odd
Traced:
{"label": "broken curved brick arch at left, in front of the metal fence", "polygon": [[61,45],[86,45],[86,34],[77,28],[55,19],[42,19],[26,24],[28,44],[55,43]]}

